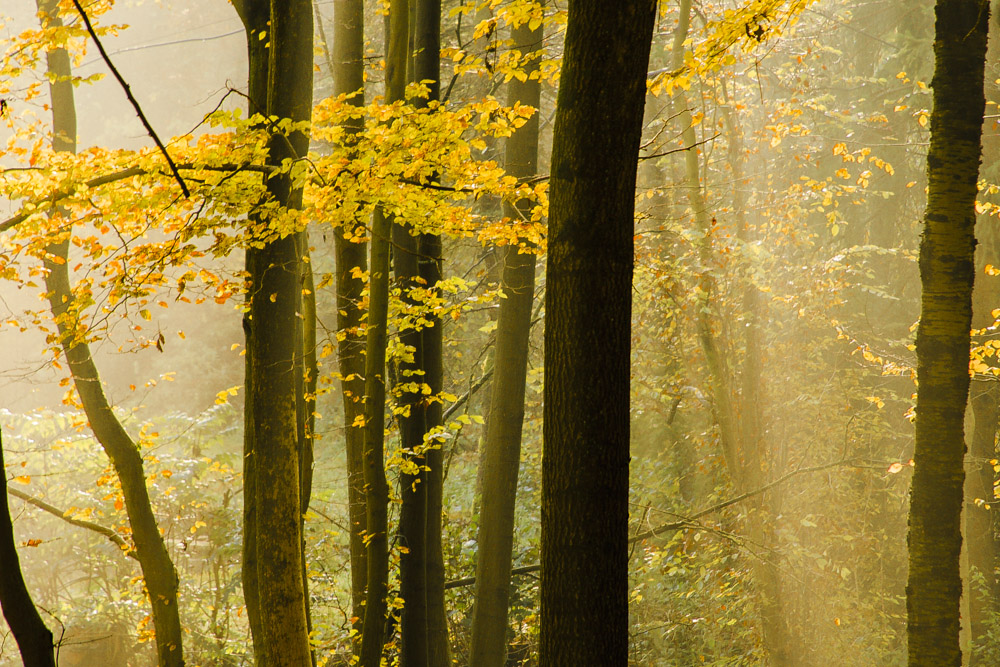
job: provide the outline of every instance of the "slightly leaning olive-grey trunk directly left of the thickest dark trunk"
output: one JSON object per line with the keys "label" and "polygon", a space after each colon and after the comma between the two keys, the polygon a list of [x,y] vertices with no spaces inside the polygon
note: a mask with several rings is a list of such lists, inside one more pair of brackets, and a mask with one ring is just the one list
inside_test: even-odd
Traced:
{"label": "slightly leaning olive-grey trunk directly left of the thickest dark trunk", "polygon": [[[513,48],[540,55],[542,29],[527,24],[512,31]],[[527,72],[538,68],[532,59]],[[541,84],[537,79],[507,84],[508,104],[538,109]],[[507,139],[504,161],[507,173],[521,179],[535,175],[538,165],[538,117],[535,114]],[[504,202],[504,216],[530,219],[531,203],[515,207]],[[482,454],[482,501],[479,551],[476,561],[475,609],[472,617],[471,662],[481,667],[503,667],[507,653],[507,610],[514,542],[514,505],[521,465],[521,427],[524,422],[524,388],[528,367],[531,308],[534,303],[536,256],[508,246],[502,253],[502,286],[494,352],[490,412]]]}

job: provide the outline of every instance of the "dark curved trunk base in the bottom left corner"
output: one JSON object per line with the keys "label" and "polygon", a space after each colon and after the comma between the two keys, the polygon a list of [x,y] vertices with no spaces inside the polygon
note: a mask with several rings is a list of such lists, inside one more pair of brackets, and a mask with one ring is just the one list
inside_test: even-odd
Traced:
{"label": "dark curved trunk base in the bottom left corner", "polygon": [[45,626],[31,601],[31,594],[21,574],[21,562],[17,557],[14,524],[11,523],[10,507],[7,504],[7,467],[3,459],[2,434],[0,496],[3,498],[3,507],[0,507],[0,572],[3,572],[3,576],[0,576],[0,607],[3,608],[3,617],[17,641],[25,667],[55,667],[52,631]]}

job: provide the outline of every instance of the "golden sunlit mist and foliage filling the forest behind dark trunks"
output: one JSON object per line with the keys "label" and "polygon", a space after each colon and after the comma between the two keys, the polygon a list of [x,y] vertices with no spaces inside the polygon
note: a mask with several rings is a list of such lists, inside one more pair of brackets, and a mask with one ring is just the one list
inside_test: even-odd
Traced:
{"label": "golden sunlit mist and foliage filling the forest behind dark trunks", "polygon": [[[231,131],[233,154],[242,156],[236,151],[245,146],[236,144],[254,128],[232,119],[236,129],[206,120],[218,110],[249,115],[247,38],[234,7],[222,0],[119,0],[94,7],[106,4],[113,7],[97,21],[115,28],[102,34],[102,43],[167,151],[188,155],[183,151],[198,137]],[[344,113],[341,107],[331,112],[322,106],[335,89],[333,45],[323,40],[332,39],[339,4],[314,3],[320,25],[313,98],[320,126],[332,122],[329,118],[347,117],[336,115]],[[469,166],[489,163],[492,168],[490,161],[503,166],[504,133],[487,136],[480,126],[507,118],[497,109],[506,103],[506,86],[514,78],[510,71],[516,67],[505,60],[514,53],[510,8],[521,4],[443,3],[441,89],[448,99],[442,108],[453,111],[486,98],[498,100],[496,108],[476,108],[461,127],[458,121],[445,130],[427,129],[429,121],[414,125],[420,129],[398,146],[390,139],[385,149],[376,140],[362,144],[370,149],[369,161],[364,170],[350,172],[353,180],[337,171],[347,169],[343,165],[353,158],[336,132],[314,137],[304,160],[305,215],[311,216],[305,270],[314,286],[300,291],[315,298],[318,384],[304,399],[315,400],[310,435],[315,453],[303,549],[310,641],[319,665],[348,664],[356,644],[352,619],[363,613],[352,610],[345,446],[352,424],[345,423],[350,419],[345,420],[338,361],[343,354],[339,340],[357,331],[338,331],[338,311],[346,308],[344,300],[338,301],[334,275],[345,268],[335,262],[334,239],[346,229],[338,211],[382,206],[379,197],[391,192],[385,182],[395,179],[393,187],[403,191],[423,178],[405,172],[406,165],[421,166],[428,159],[440,161],[434,165],[437,181],[408,195],[413,206],[426,208],[413,214],[414,220],[426,222],[410,224],[427,232],[419,228],[426,224],[432,235],[440,235],[449,282],[433,298],[412,297],[402,283],[393,283],[396,291],[390,292],[389,599],[398,603],[390,607],[396,616],[399,607],[405,608],[398,563],[408,553],[392,532],[405,495],[400,478],[409,474],[408,454],[400,453],[400,414],[405,417],[409,408],[400,406],[414,391],[407,382],[424,382],[423,370],[411,373],[406,366],[413,350],[404,349],[402,333],[407,327],[433,328],[421,318],[440,318],[434,321],[444,337],[444,384],[432,399],[422,400],[438,401],[446,413],[438,435],[444,442],[442,551],[450,582],[445,598],[450,664],[472,664],[477,601],[469,578],[477,572],[481,493],[490,474],[483,449],[495,344],[505,335],[498,313],[508,298],[504,290],[510,289],[502,273],[504,246],[520,240],[526,252],[537,254],[537,277],[526,334],[511,563],[525,571],[515,570],[512,577],[506,664],[539,664],[539,579],[531,568],[541,548],[544,209],[532,219],[529,207],[521,220],[512,220],[502,200],[547,206],[548,186],[539,184],[547,184],[558,85],[553,73],[563,56],[567,3],[550,3],[544,12],[540,176],[522,179],[538,189],[504,194],[483,175],[487,167],[473,173]],[[825,0],[806,9],[775,1],[762,3],[758,14],[729,15],[727,24],[724,12],[745,3],[704,4],[694,7],[689,36],[678,41],[678,26],[686,25],[679,4],[660,3],[637,165],[629,664],[905,664],[907,510],[917,392],[913,342],[920,312],[917,253],[926,205],[933,12],[927,3],[888,0]],[[78,27],[78,15],[63,5],[64,20]],[[381,3],[365,3],[367,103],[384,91],[385,24],[378,7]],[[5,63],[14,61],[19,50],[30,50],[32,42],[26,43],[24,35],[38,30],[36,9],[25,0],[6,0],[0,7]],[[991,33],[996,28],[991,19]],[[981,365],[974,364],[966,419],[966,467],[972,480],[966,488],[966,521],[978,517],[980,523],[965,537],[975,553],[963,556],[962,565],[962,645],[966,664],[979,665],[996,664],[1000,656],[998,542],[990,514],[1000,405],[995,381],[1000,346],[992,345],[994,309],[1000,308],[995,284],[1000,272],[992,268],[1000,266],[1000,237],[992,227],[1000,211],[993,186],[1000,183],[995,166],[1000,52],[993,36],[977,209],[973,355]],[[74,88],[80,164],[94,171],[64,169],[61,158],[47,149],[39,163],[29,164],[32,146],[47,147],[51,139],[48,86],[40,86],[37,96],[29,94],[33,83],[47,81],[45,58],[33,69],[3,70],[0,97],[8,112],[0,122],[0,223],[29,203],[18,189],[21,174],[37,172],[51,179],[48,184],[64,188],[69,183],[62,177],[77,183],[80,177],[140,164],[131,152],[153,147],[93,44],[88,40],[86,53],[80,53],[84,39],[79,34],[75,39],[73,75],[102,75]],[[372,136],[394,118],[390,112],[359,113],[361,125],[367,122],[363,131]],[[350,123],[357,124],[344,121]],[[506,134],[519,123],[511,120]],[[470,141],[465,164],[449,163],[449,151],[459,148],[438,150],[434,142],[444,145],[445,139],[434,132],[449,140],[476,139]],[[118,157],[101,153],[87,162],[92,148],[125,152]],[[378,171],[400,153],[404,166],[386,167],[389,175]],[[208,149],[204,154],[198,160],[226,165],[225,156]],[[348,157],[331,167],[342,155]],[[324,162],[327,158],[330,162]],[[468,173],[456,176],[462,167]],[[84,252],[85,243],[71,243],[68,266],[74,284],[97,285],[111,275],[102,272],[110,272],[117,261],[116,248],[166,244],[183,236],[164,231],[160,221],[189,215],[193,225],[202,213],[200,203],[216,192],[220,201],[235,196],[224,190],[224,182],[211,180],[211,169],[185,169],[193,187],[204,186],[188,203],[162,167],[159,180],[92,188],[92,210],[87,208],[90,195],[72,196],[67,219],[73,220],[66,226],[77,237],[91,235],[110,248],[94,259]],[[217,171],[226,169],[240,171],[231,164]],[[217,190],[210,192],[206,183]],[[246,183],[249,179],[240,187],[247,201],[227,199],[232,208],[211,212],[226,218],[230,231],[249,229],[245,223],[260,215],[258,202],[251,201],[260,196],[259,188]],[[173,199],[152,199],[157,192],[172,192]],[[422,199],[435,195],[441,201],[451,197],[447,205],[464,213],[442,213],[446,204],[432,208]],[[44,196],[38,194],[34,202]],[[129,196],[135,198],[133,206],[125,201]],[[402,201],[394,205],[402,218],[407,200],[397,196]],[[141,208],[149,201],[159,208]],[[185,209],[188,205],[192,208]],[[110,223],[103,230],[102,215]],[[115,216],[130,224],[148,220],[148,234],[126,237],[115,226]],[[46,232],[44,217],[3,232],[0,250],[0,428],[21,566],[59,644],[59,665],[155,665],[154,623],[122,483],[74,393],[45,298],[39,248],[45,247],[45,233],[53,232]],[[365,229],[367,238],[370,225]],[[37,234],[34,246],[30,230]],[[162,270],[166,277],[160,283],[150,279],[149,294],[119,301],[110,296],[111,287],[94,287],[80,316],[89,328],[104,394],[142,455],[153,513],[178,572],[188,665],[254,664],[241,577],[244,426],[250,418],[245,413],[245,243],[213,255],[213,243],[225,231],[219,225],[195,236],[190,242],[204,256],[190,266],[234,286],[228,298],[219,297],[208,280],[183,292],[177,281],[189,265],[150,261],[148,272]],[[393,239],[398,259],[403,251]],[[137,256],[121,256],[128,259],[116,271],[136,284],[148,277],[147,267],[129,265]],[[367,273],[359,273],[367,280]],[[368,299],[366,291],[356,301],[367,308]],[[308,323],[305,310],[296,316]],[[424,324],[413,325],[414,320]],[[432,394],[429,387],[416,391]],[[275,397],[275,405],[283,400]],[[387,625],[386,655],[394,658],[402,650],[399,628],[395,620]],[[13,635],[6,625],[0,628],[0,664],[19,664]]]}

